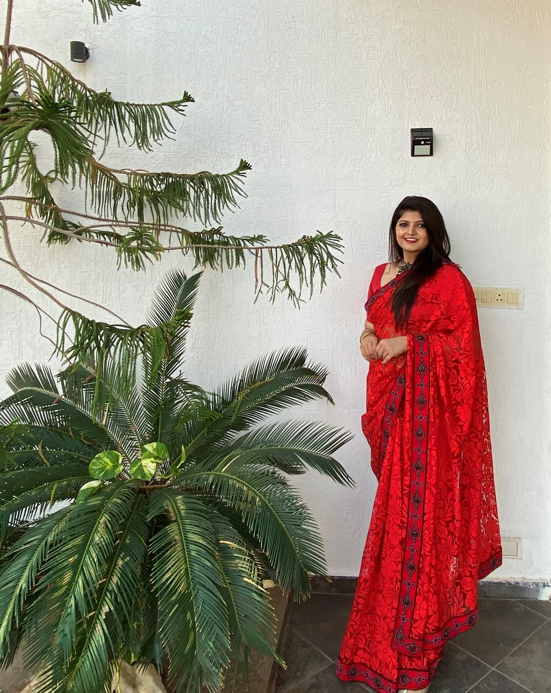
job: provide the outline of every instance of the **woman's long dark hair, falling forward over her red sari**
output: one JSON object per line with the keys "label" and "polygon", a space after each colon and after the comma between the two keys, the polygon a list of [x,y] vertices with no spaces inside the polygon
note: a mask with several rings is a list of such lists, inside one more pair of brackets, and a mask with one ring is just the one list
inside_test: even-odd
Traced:
{"label": "woman's long dark hair, falling forward over her red sari", "polygon": [[432,277],[444,263],[451,263],[449,258],[450,238],[438,207],[431,200],[414,195],[403,198],[392,215],[388,236],[390,262],[403,260],[403,249],[396,240],[396,224],[403,213],[408,211],[419,212],[423,217],[429,243],[415,258],[411,270],[401,280],[392,297],[392,312],[394,313],[396,329],[407,324],[421,284]]}

